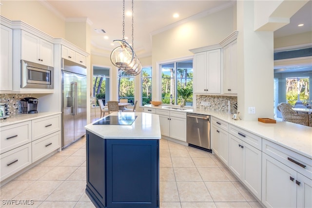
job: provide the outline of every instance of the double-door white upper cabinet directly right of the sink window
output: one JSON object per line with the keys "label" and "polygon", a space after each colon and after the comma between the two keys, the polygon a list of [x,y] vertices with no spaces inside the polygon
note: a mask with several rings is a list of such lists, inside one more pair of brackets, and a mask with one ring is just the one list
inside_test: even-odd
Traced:
{"label": "double-door white upper cabinet directly right of the sink window", "polygon": [[196,53],[194,55],[194,93],[221,93],[221,50]]}

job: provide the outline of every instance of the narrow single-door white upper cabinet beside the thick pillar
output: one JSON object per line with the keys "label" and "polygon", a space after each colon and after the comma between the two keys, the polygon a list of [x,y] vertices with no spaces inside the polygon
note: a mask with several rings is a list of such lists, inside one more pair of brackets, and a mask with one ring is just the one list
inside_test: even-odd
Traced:
{"label": "narrow single-door white upper cabinet beside the thick pillar", "polygon": [[223,93],[237,94],[237,41],[223,48]]}

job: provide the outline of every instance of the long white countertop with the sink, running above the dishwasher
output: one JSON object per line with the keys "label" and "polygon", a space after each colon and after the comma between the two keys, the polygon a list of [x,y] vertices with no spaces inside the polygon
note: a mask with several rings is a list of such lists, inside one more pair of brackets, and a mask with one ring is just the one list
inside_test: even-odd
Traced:
{"label": "long white countertop with the sink, running above the dishwasher", "polygon": [[[168,105],[145,105],[144,107],[156,108],[156,109],[168,109]],[[176,107],[176,106],[173,106]],[[272,141],[282,147],[297,152],[303,156],[312,159],[312,127],[294,124],[291,122],[276,121],[276,124],[267,124],[259,121],[243,121],[233,120],[233,114],[200,110],[200,109],[188,109],[188,110],[174,110],[185,113],[198,113],[211,115],[218,119],[228,122],[234,126],[244,129],[248,132],[254,133],[264,139]]]}

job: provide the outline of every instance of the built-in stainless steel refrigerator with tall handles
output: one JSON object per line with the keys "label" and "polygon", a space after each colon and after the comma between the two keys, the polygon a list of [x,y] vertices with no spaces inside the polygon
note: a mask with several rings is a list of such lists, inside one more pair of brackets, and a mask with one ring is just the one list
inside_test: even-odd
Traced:
{"label": "built-in stainless steel refrigerator with tall handles", "polygon": [[86,75],[85,66],[62,58],[62,148],[86,133],[84,129],[87,123]]}

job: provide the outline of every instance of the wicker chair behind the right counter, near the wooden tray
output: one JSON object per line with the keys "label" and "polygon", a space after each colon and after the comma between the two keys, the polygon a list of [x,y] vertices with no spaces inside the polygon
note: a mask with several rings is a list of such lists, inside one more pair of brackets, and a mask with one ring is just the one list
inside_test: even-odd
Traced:
{"label": "wicker chair behind the right counter, near the wooden tray", "polygon": [[292,106],[288,103],[281,103],[277,106],[277,110],[282,113],[283,121],[308,126],[308,114],[300,114],[292,110]]}

